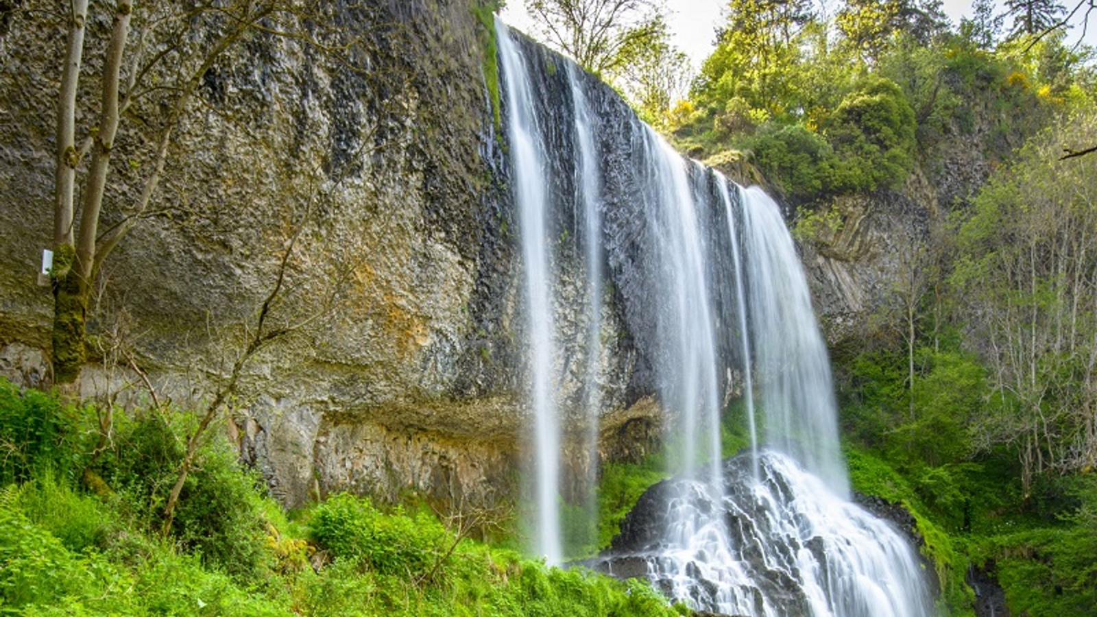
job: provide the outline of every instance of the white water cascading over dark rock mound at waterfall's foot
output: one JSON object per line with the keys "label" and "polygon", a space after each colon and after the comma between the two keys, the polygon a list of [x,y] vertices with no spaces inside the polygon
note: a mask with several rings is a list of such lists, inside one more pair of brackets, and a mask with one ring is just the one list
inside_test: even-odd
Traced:
{"label": "white water cascading over dark rock mound at waterfall's foot", "polygon": [[721,615],[931,614],[918,562],[894,527],[783,455],[761,455],[760,482],[753,467],[749,452],[724,460],[719,502],[688,478],[656,484],[591,565],[647,576]]}

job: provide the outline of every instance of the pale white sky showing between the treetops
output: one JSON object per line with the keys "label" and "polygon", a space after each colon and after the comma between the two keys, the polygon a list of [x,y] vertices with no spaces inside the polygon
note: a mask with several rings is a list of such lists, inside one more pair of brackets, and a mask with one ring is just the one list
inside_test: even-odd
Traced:
{"label": "pale white sky showing between the treetops", "polygon": [[[971,15],[971,0],[943,0],[945,12],[952,20],[953,24],[960,23],[960,18]],[[1002,8],[1002,0],[996,0]],[[1074,8],[1076,0],[1066,0],[1064,3]],[[674,34],[675,44],[689,55],[697,69],[712,52],[713,32],[723,22],[722,11],[726,0],[667,0],[667,8],[670,10],[669,22]],[[1081,12],[1081,11],[1079,11]],[[525,13],[524,0],[507,0],[507,8],[502,11],[502,21],[517,27],[518,30],[530,32],[530,18]],[[1097,46],[1097,14],[1090,20],[1093,23],[1086,34],[1086,43]],[[1081,31],[1070,33],[1071,41],[1076,41],[1082,34]]]}

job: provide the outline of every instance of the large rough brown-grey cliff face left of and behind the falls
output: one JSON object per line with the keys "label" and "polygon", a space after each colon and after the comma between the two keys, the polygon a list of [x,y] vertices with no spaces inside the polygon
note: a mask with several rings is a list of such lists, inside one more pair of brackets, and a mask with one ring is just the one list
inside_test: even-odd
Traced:
{"label": "large rough brown-grey cliff face left of and behind the falls", "polygon": [[[110,23],[97,10],[78,142],[95,119]],[[308,36],[257,33],[205,71],[152,207],[101,273],[82,393],[133,405],[150,385],[161,402],[200,405],[241,354],[290,250],[272,316],[293,333],[246,364],[227,426],[274,494],[297,505],[342,489],[419,491],[443,507],[511,497],[528,424],[521,266],[495,116],[508,110],[493,109],[495,59],[477,13],[488,14],[478,0],[325,4],[313,15],[323,27],[295,23]],[[14,13],[0,34],[0,370],[30,385],[49,383],[52,295],[35,273],[52,243],[63,52],[52,19]],[[547,100],[568,105],[563,60],[524,45]],[[615,93],[587,81],[607,122],[635,123]],[[101,228],[135,203],[160,103],[138,101],[123,119]],[[630,135],[603,156],[624,161]],[[562,182],[574,177],[574,162],[555,165]],[[562,400],[574,407],[581,251],[574,207],[555,211]],[[602,456],[614,458],[643,455],[658,434],[626,293],[610,285],[602,318],[601,381],[620,384],[603,395]],[[576,461],[579,478],[588,462]]]}

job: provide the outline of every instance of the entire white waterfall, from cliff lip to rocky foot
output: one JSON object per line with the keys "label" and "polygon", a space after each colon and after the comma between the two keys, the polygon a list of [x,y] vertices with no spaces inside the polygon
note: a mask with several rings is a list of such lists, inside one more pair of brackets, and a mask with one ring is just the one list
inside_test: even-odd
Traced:
{"label": "entire white waterfall, from cliff lip to rocky foot", "polygon": [[[562,558],[561,418],[586,426],[592,467],[598,414],[654,393],[676,475],[588,564],[719,614],[931,615],[909,541],[849,500],[826,345],[777,204],[681,157],[568,60],[497,30],[536,553]],[[623,329],[603,345],[611,328]],[[601,382],[603,361],[631,381]],[[723,459],[717,375],[736,362],[750,450]]]}

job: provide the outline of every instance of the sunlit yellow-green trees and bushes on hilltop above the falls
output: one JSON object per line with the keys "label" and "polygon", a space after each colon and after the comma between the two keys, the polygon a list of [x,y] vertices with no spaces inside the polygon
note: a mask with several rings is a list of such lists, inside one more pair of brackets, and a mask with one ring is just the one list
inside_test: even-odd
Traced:
{"label": "sunlit yellow-green trees and bushes on hilltop above the falls", "polygon": [[795,206],[897,188],[950,141],[1003,160],[1093,104],[1094,76],[1062,33],[999,41],[984,22],[954,31],[920,0],[850,0],[830,20],[799,0],[732,0],[661,125],[694,157],[751,161]]}

